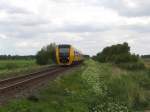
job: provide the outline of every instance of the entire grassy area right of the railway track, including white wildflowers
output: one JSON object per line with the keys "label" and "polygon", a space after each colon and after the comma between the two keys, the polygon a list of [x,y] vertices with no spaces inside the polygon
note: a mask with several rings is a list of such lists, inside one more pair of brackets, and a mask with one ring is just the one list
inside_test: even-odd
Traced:
{"label": "entire grassy area right of the railway track, including white wildflowers", "polygon": [[127,71],[92,60],[0,112],[129,112],[150,107],[149,70]]}

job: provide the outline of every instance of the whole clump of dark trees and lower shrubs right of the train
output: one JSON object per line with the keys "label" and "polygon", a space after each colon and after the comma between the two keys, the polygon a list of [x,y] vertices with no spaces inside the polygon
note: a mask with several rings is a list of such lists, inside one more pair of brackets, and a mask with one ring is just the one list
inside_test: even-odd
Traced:
{"label": "whole clump of dark trees and lower shrubs right of the train", "polygon": [[113,63],[127,69],[145,68],[140,56],[130,52],[127,42],[105,47],[102,52],[93,56],[93,59],[101,63]]}

